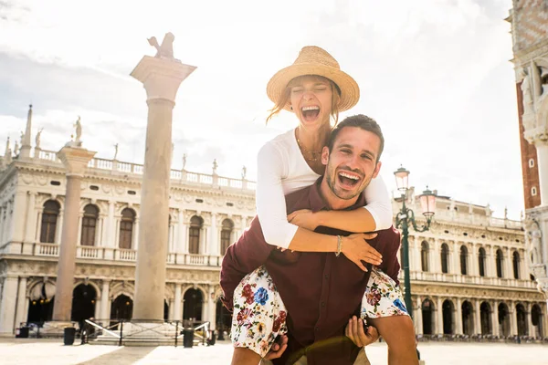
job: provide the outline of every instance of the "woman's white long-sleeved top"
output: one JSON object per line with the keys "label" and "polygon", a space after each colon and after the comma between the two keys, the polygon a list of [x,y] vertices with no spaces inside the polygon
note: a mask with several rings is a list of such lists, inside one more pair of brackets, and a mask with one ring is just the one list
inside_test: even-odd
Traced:
{"label": "woman's white long-sleeved top", "polygon": [[[299,226],[288,222],[285,195],[310,186],[320,177],[306,163],[295,139],[288,130],[268,141],[258,151],[257,214],[269,245],[288,248]],[[373,215],[376,229],[392,225],[392,203],[380,176],[365,189],[364,207]]]}

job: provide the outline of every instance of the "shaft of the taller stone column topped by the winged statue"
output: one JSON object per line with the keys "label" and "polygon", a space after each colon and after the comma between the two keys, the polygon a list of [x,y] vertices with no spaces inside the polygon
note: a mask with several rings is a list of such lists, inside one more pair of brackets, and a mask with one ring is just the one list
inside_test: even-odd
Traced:
{"label": "shaft of the taller stone column topped by the winged statue", "polygon": [[148,104],[133,319],[163,321],[174,102]]}

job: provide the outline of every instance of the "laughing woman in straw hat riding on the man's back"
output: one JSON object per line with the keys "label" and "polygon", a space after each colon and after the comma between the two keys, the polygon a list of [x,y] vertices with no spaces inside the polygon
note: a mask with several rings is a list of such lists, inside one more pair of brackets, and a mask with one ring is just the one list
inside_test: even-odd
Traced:
{"label": "laughing woman in straw hat riding on the man's back", "polygon": [[[293,65],[281,69],[270,79],[267,93],[275,103],[268,120],[281,110],[290,110],[300,123],[295,130],[289,130],[267,142],[258,152],[257,211],[266,241],[282,250],[337,252],[341,246],[338,246],[336,236],[313,232],[319,225],[328,226],[356,233],[342,238],[341,252],[362,270],[366,268],[361,260],[373,266],[380,265],[382,258],[378,252],[364,241],[364,234],[359,234],[387,229],[392,225],[391,203],[385,183],[380,178],[372,180],[365,190],[367,205],[363,209],[313,214],[310,211],[298,211],[286,215],[284,195],[314,183],[323,174],[324,166],[320,157],[332,130],[330,120],[333,119],[336,124],[339,111],[348,110],[357,103],[357,83],[341,71],[337,61],[325,50],[320,47],[303,47]],[[354,176],[347,174],[338,178],[352,181]],[[356,244],[369,246],[368,254],[354,255],[351,247]],[[235,291],[235,308],[246,308],[245,298],[238,297],[241,295],[241,287],[249,282],[262,281],[266,283],[264,287],[273,287],[264,267],[246,276]],[[380,301],[372,301],[370,289],[373,289],[374,296],[383,292],[385,294]],[[415,333],[403,301],[394,281],[374,269],[364,294],[362,317],[367,317],[386,340],[390,364],[417,362]],[[282,303],[279,305],[282,306]],[[254,341],[248,339],[247,332],[241,327],[237,328],[236,317],[235,309],[235,346],[250,348],[264,357],[265,351],[268,351],[264,343],[253,348]],[[280,327],[278,323],[274,326],[282,328],[279,333],[283,333],[283,325]]]}

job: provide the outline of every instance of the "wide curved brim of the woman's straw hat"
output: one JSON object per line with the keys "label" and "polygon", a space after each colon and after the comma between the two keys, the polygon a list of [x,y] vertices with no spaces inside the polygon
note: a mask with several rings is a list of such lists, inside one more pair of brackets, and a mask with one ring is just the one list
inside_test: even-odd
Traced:
{"label": "wide curved brim of the woman's straw hat", "polygon": [[[360,99],[360,88],[358,83],[347,73],[339,68],[332,68],[326,65],[298,64],[280,69],[269,80],[267,85],[267,95],[272,102],[278,102],[284,89],[290,83],[290,80],[304,75],[319,75],[331,79],[341,90],[341,100],[339,111],[349,110],[357,104]],[[285,105],[285,110],[290,110],[289,103]]]}

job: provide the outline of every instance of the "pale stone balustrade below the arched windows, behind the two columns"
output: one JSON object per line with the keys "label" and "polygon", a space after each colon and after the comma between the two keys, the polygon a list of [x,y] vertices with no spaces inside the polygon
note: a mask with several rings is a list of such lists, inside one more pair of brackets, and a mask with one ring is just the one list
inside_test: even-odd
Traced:
{"label": "pale stone balustrade below the arched windows, behind the two columns", "polygon": [[[32,255],[41,257],[58,257],[58,244],[10,244],[0,249],[0,255]],[[80,260],[110,260],[117,262],[136,262],[137,250],[111,247],[95,247],[89,245],[76,246],[76,258]],[[193,255],[169,253],[166,262],[175,266],[213,266],[220,267],[223,256]]]}

